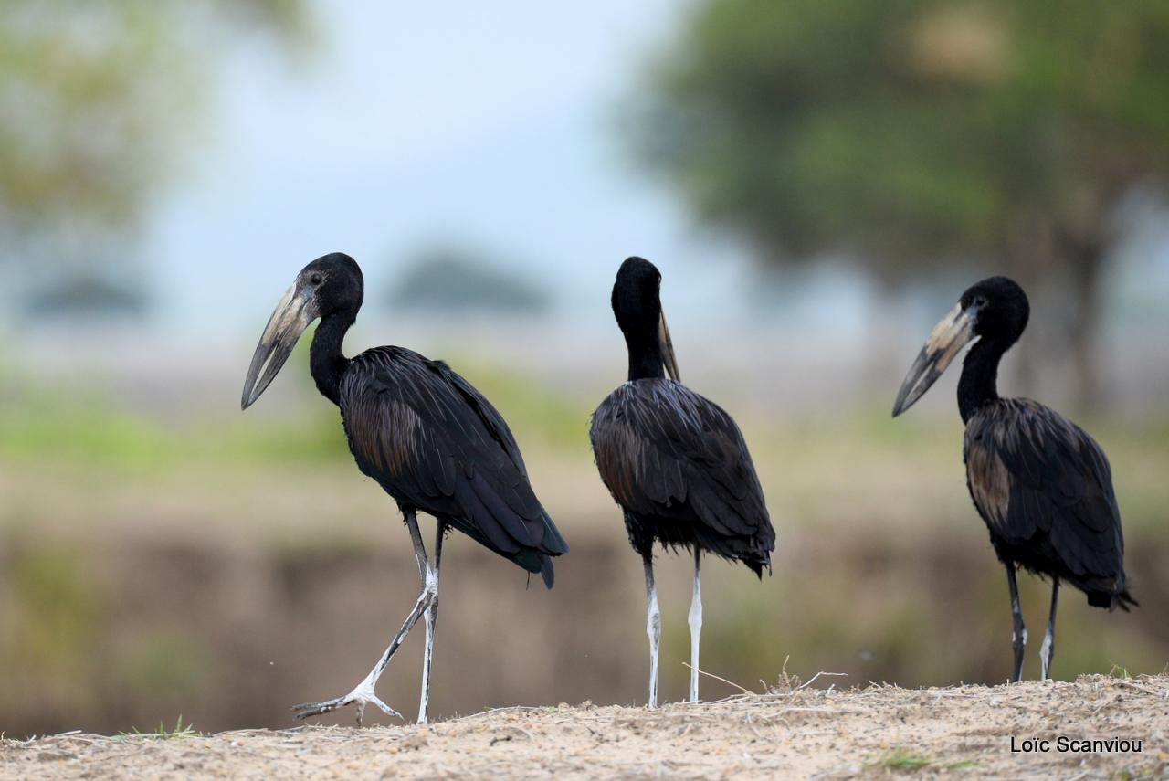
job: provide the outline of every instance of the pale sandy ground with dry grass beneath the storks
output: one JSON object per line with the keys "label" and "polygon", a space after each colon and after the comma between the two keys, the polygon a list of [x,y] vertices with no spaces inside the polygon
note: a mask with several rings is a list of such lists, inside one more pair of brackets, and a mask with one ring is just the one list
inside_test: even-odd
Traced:
{"label": "pale sandy ground with dry grass beneath the storks", "polygon": [[[1060,738],[1120,738],[1134,746],[1060,751]],[[1016,747],[1049,740],[1050,748],[1012,752],[1012,739]],[[767,694],[657,711],[584,703],[503,709],[431,726],[0,741],[4,779],[1167,774],[1169,676],[920,690],[823,690],[790,680]]]}

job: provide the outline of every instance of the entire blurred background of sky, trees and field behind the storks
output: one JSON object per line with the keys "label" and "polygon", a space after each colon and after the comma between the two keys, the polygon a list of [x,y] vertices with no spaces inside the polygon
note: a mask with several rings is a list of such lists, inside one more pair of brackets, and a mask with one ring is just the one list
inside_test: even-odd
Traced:
{"label": "entire blurred background of sky, trees and field behind the storks", "polygon": [[[1141,601],[1065,592],[1054,676],[1162,671],[1167,43],[1156,2],[7,4],[0,732],[286,726],[374,661],[416,571],[307,338],[238,413],[264,318],[332,250],[366,272],[348,350],[479,387],[573,548],[545,592],[454,538],[435,713],[644,700],[641,566],[587,440],[624,379],[629,254],[662,268],[683,375],[739,421],[779,533],[762,582],[704,569],[705,669],[1008,677],[957,372],[888,417],[936,318],[1007,272],[1032,322],[1001,389],[1108,452]],[[690,569],[660,573],[680,699]],[[1047,588],[1023,581],[1037,638]],[[420,647],[381,684],[407,714]]]}

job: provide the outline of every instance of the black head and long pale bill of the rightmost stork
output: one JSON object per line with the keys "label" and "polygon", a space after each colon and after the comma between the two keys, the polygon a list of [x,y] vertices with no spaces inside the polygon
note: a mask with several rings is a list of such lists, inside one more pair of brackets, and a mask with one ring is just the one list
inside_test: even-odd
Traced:
{"label": "black head and long pale bill of the rightmost stork", "polygon": [[975,338],[992,340],[998,354],[1005,352],[1023,333],[1030,313],[1026,293],[1014,279],[990,277],[970,285],[926,339],[898,390],[893,417],[924,396],[962,347]]}

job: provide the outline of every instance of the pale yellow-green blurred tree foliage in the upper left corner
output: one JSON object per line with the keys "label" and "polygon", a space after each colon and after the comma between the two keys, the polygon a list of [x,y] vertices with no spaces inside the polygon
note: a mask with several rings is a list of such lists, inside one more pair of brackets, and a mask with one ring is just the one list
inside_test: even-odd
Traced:
{"label": "pale yellow-green blurred tree foliage in the upper left corner", "polygon": [[[95,279],[188,151],[223,50],[307,42],[303,0],[5,0],[0,261]],[[50,276],[53,276],[50,275]],[[68,279],[64,285],[69,286]],[[51,286],[51,285],[50,285]]]}

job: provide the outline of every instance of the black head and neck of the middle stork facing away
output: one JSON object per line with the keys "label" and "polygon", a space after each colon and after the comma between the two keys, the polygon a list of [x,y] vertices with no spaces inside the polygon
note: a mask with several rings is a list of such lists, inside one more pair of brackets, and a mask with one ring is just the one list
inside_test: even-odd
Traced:
{"label": "black head and neck of the middle stork facing away", "polygon": [[613,313],[629,347],[629,379],[662,376],[678,381],[670,329],[662,311],[662,272],[643,257],[627,257],[613,284]]}

